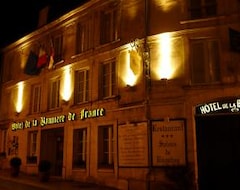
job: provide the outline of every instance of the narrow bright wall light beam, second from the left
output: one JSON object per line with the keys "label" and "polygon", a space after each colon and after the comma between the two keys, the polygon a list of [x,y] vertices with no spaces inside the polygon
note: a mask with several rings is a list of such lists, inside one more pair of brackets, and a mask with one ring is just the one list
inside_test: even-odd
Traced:
{"label": "narrow bright wall light beam, second from the left", "polygon": [[61,90],[61,95],[62,99],[65,101],[69,101],[72,95],[72,77],[71,77],[71,68],[68,66],[64,70],[64,75],[63,75],[63,87]]}

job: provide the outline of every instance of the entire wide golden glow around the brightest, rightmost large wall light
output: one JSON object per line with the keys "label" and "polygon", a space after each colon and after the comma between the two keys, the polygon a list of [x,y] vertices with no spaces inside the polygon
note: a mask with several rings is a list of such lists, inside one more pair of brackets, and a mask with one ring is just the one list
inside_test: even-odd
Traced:
{"label": "entire wide golden glow around the brightest, rightmost large wall light", "polygon": [[150,43],[152,80],[175,79],[183,76],[183,39],[174,37],[171,33],[163,33],[154,36],[154,41]]}

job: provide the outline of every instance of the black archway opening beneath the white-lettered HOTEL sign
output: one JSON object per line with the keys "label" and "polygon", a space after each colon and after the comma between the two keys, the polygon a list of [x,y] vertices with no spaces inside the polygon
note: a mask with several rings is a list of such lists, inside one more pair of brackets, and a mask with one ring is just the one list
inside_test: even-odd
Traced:
{"label": "black archway opening beneath the white-lettered HOTEL sign", "polygon": [[240,116],[196,117],[199,190],[240,189]]}

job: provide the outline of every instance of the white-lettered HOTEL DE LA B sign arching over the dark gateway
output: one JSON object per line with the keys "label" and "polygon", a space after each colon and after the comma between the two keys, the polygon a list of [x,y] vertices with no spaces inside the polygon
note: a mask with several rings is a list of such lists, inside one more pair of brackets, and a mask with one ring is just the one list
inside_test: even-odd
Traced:
{"label": "white-lettered HOTEL DE LA B sign arching over the dark gateway", "polygon": [[196,107],[199,115],[236,112],[240,112],[240,98],[208,102]]}

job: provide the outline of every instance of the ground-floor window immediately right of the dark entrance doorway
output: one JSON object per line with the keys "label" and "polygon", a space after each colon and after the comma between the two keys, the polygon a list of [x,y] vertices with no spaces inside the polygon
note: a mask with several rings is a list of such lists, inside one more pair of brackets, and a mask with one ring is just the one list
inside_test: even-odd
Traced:
{"label": "ground-floor window immediately right of the dark entrance doorway", "polygon": [[75,129],[73,132],[73,168],[86,168],[87,129]]}

